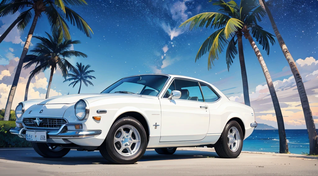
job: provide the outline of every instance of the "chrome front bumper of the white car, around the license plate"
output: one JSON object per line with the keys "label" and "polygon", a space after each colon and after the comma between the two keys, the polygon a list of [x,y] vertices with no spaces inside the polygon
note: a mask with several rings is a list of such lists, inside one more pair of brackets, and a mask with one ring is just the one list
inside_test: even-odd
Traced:
{"label": "chrome front bumper of the white car, around the license plate", "polygon": [[[58,131],[46,130],[43,128],[39,129],[29,129],[26,127],[23,128],[10,128],[11,134],[16,134],[20,138],[25,138],[26,131],[45,131],[47,134],[47,138],[51,139],[85,139],[96,137],[101,134],[101,130],[73,130],[76,124],[64,124],[62,125]],[[72,130],[69,130],[71,128]]]}

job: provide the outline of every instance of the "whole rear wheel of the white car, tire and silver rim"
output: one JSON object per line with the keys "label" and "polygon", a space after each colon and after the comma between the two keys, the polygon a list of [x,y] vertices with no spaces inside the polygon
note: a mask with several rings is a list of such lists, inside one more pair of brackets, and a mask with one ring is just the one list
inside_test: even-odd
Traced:
{"label": "whole rear wheel of the white car, tire and silver rim", "polygon": [[242,151],[243,132],[237,121],[226,124],[214,149],[221,158],[236,158]]}

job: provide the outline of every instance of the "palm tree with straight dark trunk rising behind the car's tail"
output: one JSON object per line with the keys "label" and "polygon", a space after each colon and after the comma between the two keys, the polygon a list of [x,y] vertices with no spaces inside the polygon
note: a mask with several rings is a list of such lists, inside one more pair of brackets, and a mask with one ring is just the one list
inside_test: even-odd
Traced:
{"label": "palm tree with straight dark trunk rising behind the car's tail", "polygon": [[[232,8],[230,3],[225,3],[224,1],[218,1],[213,3],[213,5],[218,5],[221,7],[220,10],[223,13],[218,12],[208,12],[208,13],[202,13],[196,16],[191,17],[184,23],[182,23],[181,26],[186,26],[188,23],[190,23],[190,30],[198,29],[198,28],[208,28],[209,26],[214,27],[214,29],[218,29],[215,31],[211,36],[209,36],[201,45],[197,56],[196,56],[196,62],[197,60],[209,52],[208,56],[208,69],[211,69],[211,66],[214,65],[213,61],[215,59],[218,59],[218,54],[223,52],[224,47],[227,45],[226,49],[226,64],[227,68],[229,70],[230,65],[233,63],[233,59],[235,55],[239,53],[239,61],[241,66],[241,75],[242,75],[242,82],[243,82],[243,95],[244,95],[244,103],[245,105],[250,106],[250,98],[249,98],[249,92],[248,92],[248,82],[247,82],[247,75],[246,75],[246,68],[245,68],[245,58],[243,53],[243,43],[242,43],[242,25],[238,22],[238,20],[235,18],[235,16],[238,16],[236,11],[232,11],[230,8]],[[227,11],[228,10],[228,11]],[[261,12],[260,12],[261,13]],[[235,25],[239,25],[239,28],[235,28]],[[227,41],[227,38],[229,36],[220,35],[221,33],[224,33],[224,30],[226,28],[227,32],[230,32],[230,30],[233,31],[234,35],[231,36],[230,42]],[[222,28],[221,28],[222,27]],[[221,29],[220,29],[221,28]],[[218,38],[222,40],[222,43],[218,42]],[[225,39],[226,38],[226,39]],[[214,43],[214,44],[213,44]],[[238,45],[238,49],[236,47]],[[216,52],[215,52],[216,51]]]}

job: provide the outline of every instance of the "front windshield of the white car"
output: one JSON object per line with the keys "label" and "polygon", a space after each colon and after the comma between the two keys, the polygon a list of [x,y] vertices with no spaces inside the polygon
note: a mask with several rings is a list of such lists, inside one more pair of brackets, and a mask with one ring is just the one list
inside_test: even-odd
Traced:
{"label": "front windshield of the white car", "polygon": [[105,93],[157,96],[168,80],[166,75],[138,75],[121,79],[105,89]]}

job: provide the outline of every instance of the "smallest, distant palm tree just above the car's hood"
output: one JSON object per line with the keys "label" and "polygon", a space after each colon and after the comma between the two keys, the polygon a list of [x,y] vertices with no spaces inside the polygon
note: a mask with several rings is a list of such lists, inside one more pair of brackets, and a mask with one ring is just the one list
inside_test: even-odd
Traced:
{"label": "smallest, distant palm tree just above the car's hood", "polygon": [[[73,74],[71,74],[71,73],[67,74],[67,76],[71,77],[71,78],[68,78],[65,81],[73,81],[68,86],[73,84],[73,87],[74,87],[77,83],[79,83],[79,92],[80,92],[80,88],[82,87],[82,81],[84,82],[86,87],[88,86],[88,84],[94,86],[91,81],[87,80],[87,79],[92,80],[93,78],[96,79],[94,76],[88,75],[88,74],[94,72],[94,70],[87,70],[91,66],[90,65],[85,66],[85,65],[82,65],[82,63],[76,62],[76,67],[78,69],[71,70],[71,72],[73,72]],[[65,81],[63,81],[63,82],[65,82]]]}

